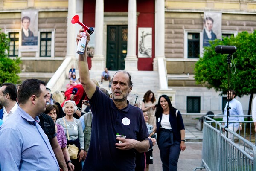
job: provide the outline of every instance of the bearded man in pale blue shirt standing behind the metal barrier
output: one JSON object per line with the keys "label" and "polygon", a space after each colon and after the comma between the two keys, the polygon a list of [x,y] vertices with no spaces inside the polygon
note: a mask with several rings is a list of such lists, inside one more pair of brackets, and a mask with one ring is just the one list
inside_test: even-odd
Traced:
{"label": "bearded man in pale blue shirt standing behind the metal barrier", "polygon": [[[228,119],[228,128],[234,132],[236,132],[238,129],[242,130],[242,122],[244,121],[244,117],[239,117],[239,116],[243,116],[244,112],[243,112],[243,107],[242,104],[240,103],[240,101],[235,99],[236,97],[236,92],[234,90],[230,90],[227,93],[227,99],[228,101],[230,101],[230,113],[229,113],[229,119]],[[223,117],[223,121],[225,121],[226,123],[224,124],[224,126],[227,126],[227,103],[224,109],[224,116]],[[236,122],[236,123],[231,123],[231,122]],[[228,138],[230,139],[234,139],[234,136],[232,133],[228,133]]]}

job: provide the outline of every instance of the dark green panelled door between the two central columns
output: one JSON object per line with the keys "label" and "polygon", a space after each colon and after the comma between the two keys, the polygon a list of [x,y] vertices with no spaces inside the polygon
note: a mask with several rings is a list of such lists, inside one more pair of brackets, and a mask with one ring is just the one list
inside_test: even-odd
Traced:
{"label": "dark green panelled door between the two central columns", "polygon": [[107,26],[107,68],[124,70],[127,54],[127,25]]}

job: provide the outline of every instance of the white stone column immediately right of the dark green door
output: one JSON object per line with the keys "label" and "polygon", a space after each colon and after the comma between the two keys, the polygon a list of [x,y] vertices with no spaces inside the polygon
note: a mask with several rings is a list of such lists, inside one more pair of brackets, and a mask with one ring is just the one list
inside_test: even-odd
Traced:
{"label": "white stone column immediately right of the dark green door", "polygon": [[127,55],[125,58],[125,70],[138,70],[138,58],[136,56],[136,0],[128,3],[128,40]]}

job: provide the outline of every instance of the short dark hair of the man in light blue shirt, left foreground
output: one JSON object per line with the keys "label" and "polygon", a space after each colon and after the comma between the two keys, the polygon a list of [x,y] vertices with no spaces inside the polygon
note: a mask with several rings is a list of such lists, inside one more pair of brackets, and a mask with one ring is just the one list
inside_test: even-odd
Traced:
{"label": "short dark hair of the man in light blue shirt, left foreground", "polygon": [[25,104],[32,95],[39,97],[42,93],[41,84],[45,86],[45,82],[38,79],[26,79],[23,81],[17,93],[19,104]]}

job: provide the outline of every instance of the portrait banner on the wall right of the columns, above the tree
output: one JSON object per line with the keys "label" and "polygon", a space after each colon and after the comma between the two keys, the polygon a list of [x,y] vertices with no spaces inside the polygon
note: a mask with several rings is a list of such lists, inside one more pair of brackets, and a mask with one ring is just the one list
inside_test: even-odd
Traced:
{"label": "portrait banner on the wall right of the columns, above the tree", "polygon": [[209,41],[221,39],[221,13],[204,12],[203,46],[209,46]]}

